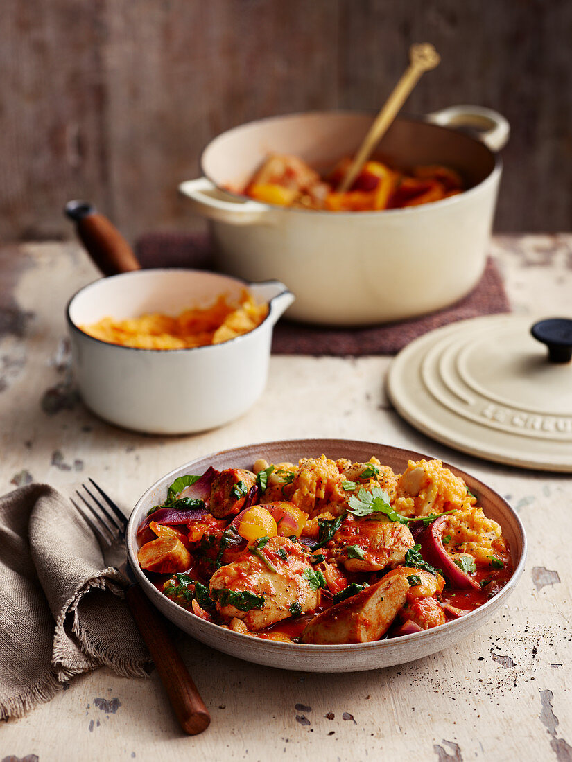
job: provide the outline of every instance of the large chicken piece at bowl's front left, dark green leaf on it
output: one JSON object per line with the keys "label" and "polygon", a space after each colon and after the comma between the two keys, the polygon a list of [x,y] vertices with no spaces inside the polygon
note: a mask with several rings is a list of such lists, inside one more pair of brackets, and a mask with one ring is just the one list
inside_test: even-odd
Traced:
{"label": "large chicken piece at bowl's front left, dark green leaf on it", "polygon": [[313,611],[318,604],[315,572],[307,552],[288,537],[249,546],[236,562],[210,578],[210,597],[225,620],[243,620],[250,632]]}

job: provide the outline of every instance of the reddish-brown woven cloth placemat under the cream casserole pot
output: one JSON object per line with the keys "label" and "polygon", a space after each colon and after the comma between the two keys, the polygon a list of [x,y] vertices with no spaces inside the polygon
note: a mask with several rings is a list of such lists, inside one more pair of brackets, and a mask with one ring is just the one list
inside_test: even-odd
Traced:
{"label": "reddish-brown woven cloth placemat under the cream casserole pot", "polygon": [[[200,233],[150,232],[141,236],[135,248],[143,267],[214,269],[209,239]],[[274,329],[272,354],[337,357],[397,354],[414,338],[434,328],[500,312],[510,312],[509,299],[496,264],[488,258],[477,286],[464,299],[446,309],[420,318],[366,328],[325,328],[282,319]]]}

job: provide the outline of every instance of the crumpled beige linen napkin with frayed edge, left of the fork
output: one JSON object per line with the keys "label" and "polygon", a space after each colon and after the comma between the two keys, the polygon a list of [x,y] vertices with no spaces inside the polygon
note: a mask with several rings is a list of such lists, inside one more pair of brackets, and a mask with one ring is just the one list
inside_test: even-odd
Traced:
{"label": "crumpled beige linen napkin with frayed edge, left of the fork", "polygon": [[31,484],[0,498],[0,719],[102,665],[145,676],[121,581],[68,497]]}

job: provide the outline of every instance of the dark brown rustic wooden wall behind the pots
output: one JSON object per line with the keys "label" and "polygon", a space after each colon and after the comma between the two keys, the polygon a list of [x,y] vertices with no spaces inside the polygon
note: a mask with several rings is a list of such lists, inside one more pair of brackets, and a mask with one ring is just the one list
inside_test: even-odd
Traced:
{"label": "dark brown rustic wooden wall behind the pots", "polygon": [[570,0],[2,0],[0,239],[67,237],[85,197],[133,238],[198,226],[175,187],[230,126],[376,108],[430,40],[407,104],[513,126],[496,229],[569,230]]}

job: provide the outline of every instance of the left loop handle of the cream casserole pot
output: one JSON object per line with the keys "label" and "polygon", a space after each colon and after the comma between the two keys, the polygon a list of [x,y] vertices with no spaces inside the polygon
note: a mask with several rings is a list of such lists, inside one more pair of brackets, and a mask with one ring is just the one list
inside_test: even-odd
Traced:
{"label": "left loop handle of the cream casserole pot", "polygon": [[191,200],[195,212],[217,223],[252,225],[272,214],[265,204],[258,201],[227,201],[217,197],[217,186],[207,178],[186,180],[178,186],[178,191]]}

